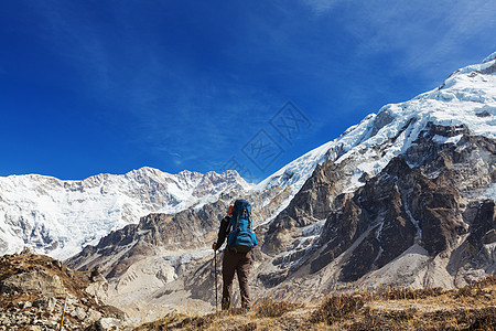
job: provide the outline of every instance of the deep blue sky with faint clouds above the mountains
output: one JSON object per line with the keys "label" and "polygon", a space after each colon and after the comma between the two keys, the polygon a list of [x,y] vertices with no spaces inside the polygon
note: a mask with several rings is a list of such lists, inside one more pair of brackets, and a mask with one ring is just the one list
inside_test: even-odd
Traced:
{"label": "deep blue sky with faint clouds above the mountains", "polygon": [[478,0],[4,1],[0,175],[260,180],[481,62],[495,18]]}

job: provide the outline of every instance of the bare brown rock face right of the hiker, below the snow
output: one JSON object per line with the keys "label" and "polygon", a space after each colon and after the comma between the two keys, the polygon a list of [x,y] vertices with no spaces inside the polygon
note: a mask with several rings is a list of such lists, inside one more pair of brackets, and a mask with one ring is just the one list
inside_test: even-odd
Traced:
{"label": "bare brown rock face right of the hiker, below the snow", "polygon": [[[453,137],[456,142],[446,143]],[[266,268],[269,273],[260,269],[258,280],[274,287],[300,282],[304,276],[312,284],[310,274],[326,278],[327,287],[358,280],[374,286],[370,275],[399,264],[411,247],[424,252],[418,258],[424,269],[417,270],[424,280],[411,273],[401,277],[400,286],[450,287],[468,281],[474,276],[468,270],[490,274],[495,269],[494,200],[478,196],[494,185],[495,164],[494,139],[474,136],[463,125],[433,124],[353,194],[336,196],[330,188],[343,179],[328,171],[336,168],[335,162],[324,163],[268,227],[262,250],[277,257]],[[316,205],[313,196],[320,196],[328,212],[320,235],[301,247],[305,228],[322,222],[322,209],[305,207]],[[438,265],[428,267],[424,257]],[[395,276],[390,275],[391,284],[398,280]]]}

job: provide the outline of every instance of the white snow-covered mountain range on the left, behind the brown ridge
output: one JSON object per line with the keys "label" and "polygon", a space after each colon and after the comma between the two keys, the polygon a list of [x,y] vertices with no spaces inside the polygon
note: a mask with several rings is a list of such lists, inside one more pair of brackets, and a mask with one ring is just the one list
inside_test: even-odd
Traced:
{"label": "white snow-covered mountain range on the left, behind the brown ridge", "polygon": [[0,178],[0,254],[31,247],[67,258],[150,213],[176,213],[250,188],[236,171],[170,174],[141,168],[82,181],[36,174]]}

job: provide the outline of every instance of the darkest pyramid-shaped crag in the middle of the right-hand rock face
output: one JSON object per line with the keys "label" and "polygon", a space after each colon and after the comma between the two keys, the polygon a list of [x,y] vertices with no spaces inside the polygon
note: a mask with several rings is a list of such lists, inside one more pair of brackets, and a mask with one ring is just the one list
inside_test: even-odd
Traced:
{"label": "darkest pyramid-shaped crag in the middle of the right-hand rock face", "polygon": [[416,241],[432,256],[451,248],[464,231],[459,201],[456,191],[436,185],[395,158],[342,210],[331,213],[320,238],[325,248],[311,270],[320,270],[364,234],[343,266],[343,281],[381,268]]}

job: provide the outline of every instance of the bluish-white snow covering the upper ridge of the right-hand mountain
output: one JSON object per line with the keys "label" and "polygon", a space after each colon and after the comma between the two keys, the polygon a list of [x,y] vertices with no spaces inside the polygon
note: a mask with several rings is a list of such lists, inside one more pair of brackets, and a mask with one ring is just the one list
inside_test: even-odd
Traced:
{"label": "bluish-white snow covering the upper ridge of the right-hand mountain", "polygon": [[[364,172],[378,173],[393,157],[403,153],[431,122],[441,126],[466,125],[474,134],[496,139],[496,52],[481,64],[457,70],[439,87],[411,100],[384,106],[338,138],[308,152],[283,167],[257,185],[263,190],[272,185],[291,184],[296,191],[323,161],[343,162],[358,157],[351,191],[363,185]],[[460,137],[444,143],[456,142]],[[377,147],[387,143],[385,153]],[[358,156],[362,154],[362,156]]]}

